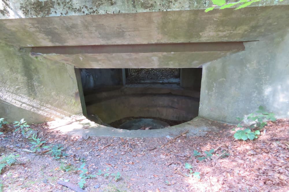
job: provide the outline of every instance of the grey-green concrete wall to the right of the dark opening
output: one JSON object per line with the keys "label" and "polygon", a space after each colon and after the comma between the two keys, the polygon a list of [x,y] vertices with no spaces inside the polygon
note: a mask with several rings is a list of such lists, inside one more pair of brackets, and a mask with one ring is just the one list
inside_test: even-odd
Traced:
{"label": "grey-green concrete wall to the right of the dark opening", "polygon": [[289,30],[245,43],[246,50],[203,66],[199,115],[237,123],[264,106],[289,118]]}

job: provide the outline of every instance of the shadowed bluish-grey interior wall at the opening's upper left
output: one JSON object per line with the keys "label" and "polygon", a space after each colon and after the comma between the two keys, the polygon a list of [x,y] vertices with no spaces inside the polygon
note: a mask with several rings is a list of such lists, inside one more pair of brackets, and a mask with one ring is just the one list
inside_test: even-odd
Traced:
{"label": "shadowed bluish-grey interior wall at the opening's upper left", "polygon": [[123,85],[123,69],[80,69],[84,93],[100,87]]}

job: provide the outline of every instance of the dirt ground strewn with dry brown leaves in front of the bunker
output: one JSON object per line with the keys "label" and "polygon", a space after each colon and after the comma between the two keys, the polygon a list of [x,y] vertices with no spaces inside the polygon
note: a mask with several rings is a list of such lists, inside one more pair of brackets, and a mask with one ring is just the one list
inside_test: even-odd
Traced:
{"label": "dirt ground strewn with dry brown leaves in front of the bunker", "polygon": [[[289,191],[289,120],[268,123],[266,134],[254,141],[235,140],[233,126],[224,125],[219,134],[183,135],[163,148],[171,138],[84,140],[46,124],[32,128],[45,145],[62,144],[68,156],[53,159],[47,153],[23,152],[30,149],[29,141],[13,133],[13,126],[5,126],[1,155],[20,156],[1,172],[3,191],[72,191],[57,182],[77,185],[83,163],[86,175],[96,176],[86,179],[87,191]],[[198,159],[211,149],[211,157]]]}

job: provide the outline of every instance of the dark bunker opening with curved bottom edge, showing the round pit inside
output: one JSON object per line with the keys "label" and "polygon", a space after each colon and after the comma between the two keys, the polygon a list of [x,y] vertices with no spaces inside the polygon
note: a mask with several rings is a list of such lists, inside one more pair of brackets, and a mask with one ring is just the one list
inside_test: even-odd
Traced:
{"label": "dark bunker opening with curved bottom edge, showing the round pit inside", "polygon": [[198,116],[202,68],[80,69],[88,119],[128,130]]}

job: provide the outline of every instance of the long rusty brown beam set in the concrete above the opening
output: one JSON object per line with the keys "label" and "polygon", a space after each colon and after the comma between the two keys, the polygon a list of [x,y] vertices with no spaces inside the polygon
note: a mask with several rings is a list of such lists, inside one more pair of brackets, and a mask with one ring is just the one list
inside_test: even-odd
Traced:
{"label": "long rusty brown beam set in the concrete above the opening", "polygon": [[245,50],[243,42],[158,43],[131,45],[87,45],[32,47],[31,53],[40,54],[103,54],[103,53],[155,53],[203,52]]}

